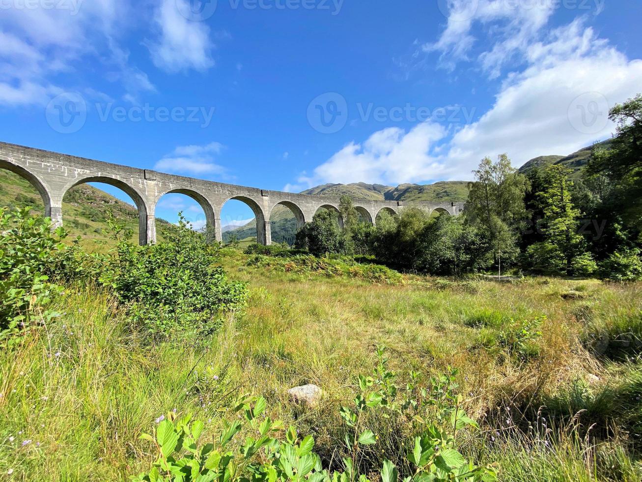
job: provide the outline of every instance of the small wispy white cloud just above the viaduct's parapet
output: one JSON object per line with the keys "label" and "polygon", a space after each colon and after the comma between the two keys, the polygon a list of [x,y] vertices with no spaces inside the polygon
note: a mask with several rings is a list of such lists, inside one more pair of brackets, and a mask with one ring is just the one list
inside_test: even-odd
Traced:
{"label": "small wispy white cloud just above the viaduct's parapet", "polygon": [[223,145],[218,142],[180,146],[157,161],[154,169],[180,174],[225,174],[225,168],[214,162],[222,149]]}

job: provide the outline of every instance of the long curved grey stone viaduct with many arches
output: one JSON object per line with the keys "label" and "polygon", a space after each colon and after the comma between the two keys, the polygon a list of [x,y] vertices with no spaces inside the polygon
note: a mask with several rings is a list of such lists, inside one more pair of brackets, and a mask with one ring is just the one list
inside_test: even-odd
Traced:
{"label": "long curved grey stone viaduct with many arches", "polygon": [[[338,211],[339,207],[339,199],[336,197],[268,191],[203,181],[3,142],[0,142],[0,168],[27,179],[42,196],[45,215],[51,217],[58,226],[62,225],[62,198],[69,189],[78,184],[92,182],[120,188],[130,195],[138,208],[141,244],[155,242],[156,204],[160,197],[167,193],[182,193],[195,199],[205,212],[208,231],[213,231],[216,240],[219,241],[222,239],[221,208],[230,199],[243,201],[252,208],[256,217],[257,242],[261,244],[272,242],[270,213],[279,204],[287,206],[294,213],[297,228],[311,221],[320,208]],[[399,213],[404,206],[401,201],[353,199],[352,202],[361,217],[371,223],[382,210]],[[463,202],[413,202],[412,205],[429,213],[439,211],[449,215],[458,215],[464,209]]]}

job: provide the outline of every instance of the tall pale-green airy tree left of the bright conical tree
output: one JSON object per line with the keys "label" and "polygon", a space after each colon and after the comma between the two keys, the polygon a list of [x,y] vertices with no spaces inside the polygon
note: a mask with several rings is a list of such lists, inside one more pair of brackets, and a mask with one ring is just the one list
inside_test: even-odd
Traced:
{"label": "tall pale-green airy tree left of the bright conical tree", "polygon": [[485,157],[473,174],[475,181],[469,184],[465,215],[489,240],[501,270],[502,256],[511,260],[518,253],[517,233],[526,217],[528,180],[511,166],[506,154],[498,156],[496,163]]}

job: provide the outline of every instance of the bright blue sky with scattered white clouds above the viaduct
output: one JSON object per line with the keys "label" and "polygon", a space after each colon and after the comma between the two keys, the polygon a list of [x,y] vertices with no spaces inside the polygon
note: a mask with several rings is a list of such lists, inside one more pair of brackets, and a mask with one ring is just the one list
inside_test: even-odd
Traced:
{"label": "bright blue sky with scattered white clouds above the viaduct", "polygon": [[[0,0],[1,139],[273,190],[469,179],[609,136],[642,3]],[[110,192],[115,192],[111,190]],[[186,197],[178,210],[202,221]],[[223,224],[251,218],[240,202]]]}

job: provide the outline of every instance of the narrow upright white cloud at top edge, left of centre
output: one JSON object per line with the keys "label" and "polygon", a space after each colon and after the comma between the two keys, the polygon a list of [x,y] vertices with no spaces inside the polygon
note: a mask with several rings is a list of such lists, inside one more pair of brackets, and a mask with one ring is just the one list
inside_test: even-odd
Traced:
{"label": "narrow upright white cloud at top edge, left of centre", "polygon": [[205,22],[189,21],[179,10],[189,10],[189,0],[162,0],[154,21],[159,39],[148,42],[155,66],[170,73],[187,69],[206,70],[214,66],[213,44]]}

